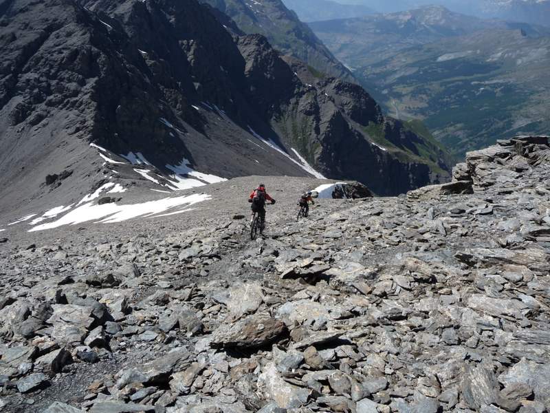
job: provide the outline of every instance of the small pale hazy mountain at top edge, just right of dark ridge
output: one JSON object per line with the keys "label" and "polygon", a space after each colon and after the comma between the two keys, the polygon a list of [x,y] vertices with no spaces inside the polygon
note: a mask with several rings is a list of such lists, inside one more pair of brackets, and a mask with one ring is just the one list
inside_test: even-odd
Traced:
{"label": "small pale hazy mountain at top edge, just right of dark ridge", "polygon": [[373,14],[375,10],[360,4],[340,4],[330,0],[283,0],[301,21],[349,19]]}

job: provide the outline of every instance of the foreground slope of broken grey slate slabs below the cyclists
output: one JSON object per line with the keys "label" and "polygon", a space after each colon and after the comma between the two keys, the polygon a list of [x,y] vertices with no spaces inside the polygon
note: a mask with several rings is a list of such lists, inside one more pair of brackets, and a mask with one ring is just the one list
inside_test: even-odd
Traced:
{"label": "foreground slope of broken grey slate slabs below the cyclists", "polygon": [[549,162],[547,137],[503,140],[450,184],[320,201],[299,226],[278,211],[254,242],[239,215],[104,243],[6,240],[0,403],[545,412]]}

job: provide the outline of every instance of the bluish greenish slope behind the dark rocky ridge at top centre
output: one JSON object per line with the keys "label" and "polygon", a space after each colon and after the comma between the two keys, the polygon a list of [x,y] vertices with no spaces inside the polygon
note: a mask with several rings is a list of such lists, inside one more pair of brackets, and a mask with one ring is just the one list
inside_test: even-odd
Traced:
{"label": "bluish greenish slope behind the dark rocky ridge at top centre", "polygon": [[276,49],[304,61],[315,70],[355,81],[342,63],[281,0],[200,0],[217,8],[248,34],[263,34]]}

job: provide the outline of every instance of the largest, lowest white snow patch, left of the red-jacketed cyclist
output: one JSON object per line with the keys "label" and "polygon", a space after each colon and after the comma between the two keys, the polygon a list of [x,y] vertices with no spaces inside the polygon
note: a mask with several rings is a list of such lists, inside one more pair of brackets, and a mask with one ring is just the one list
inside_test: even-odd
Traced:
{"label": "largest, lowest white snow patch, left of the red-jacketed cyclist", "polygon": [[[95,221],[104,223],[122,222],[137,217],[153,217],[165,213],[170,209],[210,200],[212,197],[204,193],[164,198],[162,200],[142,202],[138,204],[118,205],[115,203],[94,205],[91,202],[83,204],[73,211],[63,215],[60,219],[47,224],[41,224],[30,229],[29,232],[43,231],[63,225],[74,225],[82,222]],[[180,210],[181,211],[181,210]],[[174,211],[171,211],[174,212]],[[181,211],[183,212],[183,211]]]}

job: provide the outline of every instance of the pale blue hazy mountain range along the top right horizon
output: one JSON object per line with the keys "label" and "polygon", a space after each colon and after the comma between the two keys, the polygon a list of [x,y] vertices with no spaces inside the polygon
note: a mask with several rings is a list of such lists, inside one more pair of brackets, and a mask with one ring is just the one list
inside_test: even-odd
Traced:
{"label": "pale blue hazy mountain range along the top right horizon", "polygon": [[391,13],[412,10],[419,6],[445,6],[454,12],[485,19],[505,19],[550,25],[550,0],[335,0],[367,6],[377,12]]}

